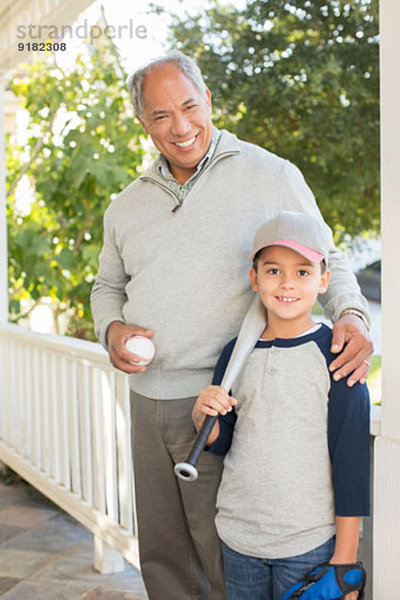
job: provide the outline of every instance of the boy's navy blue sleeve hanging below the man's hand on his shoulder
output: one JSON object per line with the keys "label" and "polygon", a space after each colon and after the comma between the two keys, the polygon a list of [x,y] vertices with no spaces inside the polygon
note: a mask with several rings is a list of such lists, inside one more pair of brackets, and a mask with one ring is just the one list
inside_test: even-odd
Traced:
{"label": "boy's navy blue sleeve hanging below the man's hand on his shoulder", "polygon": [[370,402],[366,384],[332,379],[328,405],[328,445],[335,513],[370,514]]}

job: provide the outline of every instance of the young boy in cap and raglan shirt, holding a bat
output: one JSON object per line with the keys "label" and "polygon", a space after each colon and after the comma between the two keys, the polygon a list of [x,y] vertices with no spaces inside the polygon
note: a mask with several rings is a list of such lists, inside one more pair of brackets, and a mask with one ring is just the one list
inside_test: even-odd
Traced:
{"label": "young boy in cap and raglan shirt, holding a bat", "polygon": [[258,230],[249,275],[268,324],[232,395],[219,383],[235,340],[193,409],[197,428],[219,415],[208,446],[226,455],[216,526],[228,600],[278,600],[315,566],[357,558],[369,514],[369,396],[365,384],[331,377],[331,329],[311,316],[328,287],[328,249],[310,215],[283,212]]}

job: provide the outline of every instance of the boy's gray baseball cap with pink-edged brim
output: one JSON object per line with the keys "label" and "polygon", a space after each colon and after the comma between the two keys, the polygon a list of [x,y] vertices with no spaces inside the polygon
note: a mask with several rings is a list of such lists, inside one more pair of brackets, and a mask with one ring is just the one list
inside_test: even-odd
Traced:
{"label": "boy's gray baseball cap with pink-edged brim", "polygon": [[312,215],[285,210],[257,230],[249,260],[267,246],[285,246],[311,262],[328,264],[332,236],[329,227]]}

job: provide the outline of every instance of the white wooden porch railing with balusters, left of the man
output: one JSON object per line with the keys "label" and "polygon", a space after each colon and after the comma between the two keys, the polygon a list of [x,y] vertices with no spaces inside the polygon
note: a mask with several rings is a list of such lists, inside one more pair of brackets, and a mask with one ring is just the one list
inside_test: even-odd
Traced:
{"label": "white wooden porch railing with balusters, left of the man", "polygon": [[0,460],[139,567],[128,378],[99,344],[0,325]]}

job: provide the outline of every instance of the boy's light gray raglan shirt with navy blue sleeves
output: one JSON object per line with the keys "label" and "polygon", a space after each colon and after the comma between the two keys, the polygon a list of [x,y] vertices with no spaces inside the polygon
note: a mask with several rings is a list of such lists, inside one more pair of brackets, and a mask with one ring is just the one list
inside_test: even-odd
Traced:
{"label": "boy's light gray raglan shirt with navy blue sleeves", "polygon": [[[219,385],[235,340],[223,350]],[[258,558],[309,552],[335,533],[335,515],[369,515],[367,386],[335,381],[326,325],[259,340],[232,386],[209,450],[225,455],[216,526],[233,550]]]}

